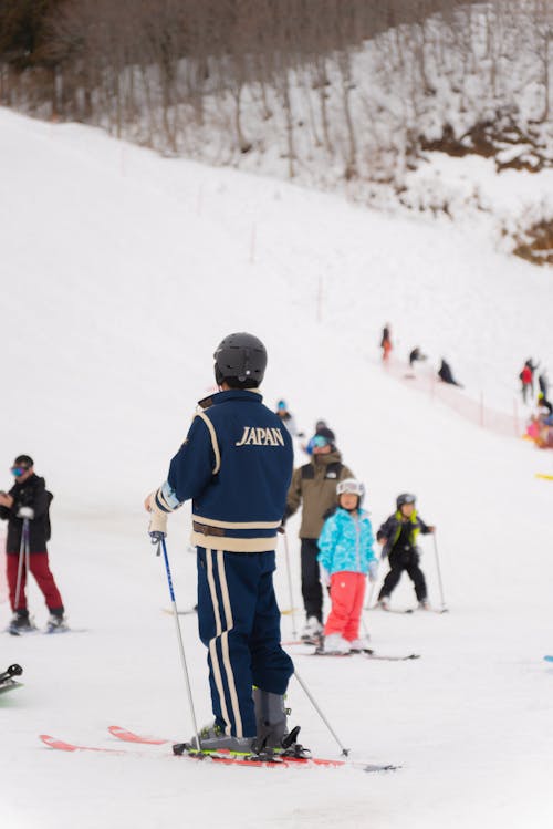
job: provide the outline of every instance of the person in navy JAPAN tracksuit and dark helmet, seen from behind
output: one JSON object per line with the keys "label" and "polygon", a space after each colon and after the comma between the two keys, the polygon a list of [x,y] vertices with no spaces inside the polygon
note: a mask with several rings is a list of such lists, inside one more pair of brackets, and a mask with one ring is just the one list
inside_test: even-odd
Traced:
{"label": "person in navy JAPAN tracksuit and dark helmet, seen from behind", "polygon": [[165,532],[167,515],[192,499],[199,633],[215,714],[215,724],[200,732],[201,747],[282,748],[284,693],[294,669],[280,646],[272,573],[292,441],[257,391],[267,365],[263,344],[231,334],[215,359],[222,391],[200,401],[167,481],[146,507],[150,532]]}

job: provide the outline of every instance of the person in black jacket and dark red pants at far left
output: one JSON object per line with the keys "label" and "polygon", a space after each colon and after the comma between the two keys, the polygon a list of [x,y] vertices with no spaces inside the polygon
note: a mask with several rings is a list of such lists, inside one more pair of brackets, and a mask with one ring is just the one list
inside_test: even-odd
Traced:
{"label": "person in black jacket and dark red pants at far left", "polygon": [[0,519],[8,521],[7,576],[13,619],[9,631],[15,635],[34,630],[27,607],[27,561],[24,533],[28,532],[29,569],[44,594],[50,618],[46,631],[65,630],[62,597],[50,571],[46,542],[50,540],[49,506],[52,498],[44,478],[34,473],[29,455],[18,455],[11,467],[15,483],[8,494],[0,493]]}

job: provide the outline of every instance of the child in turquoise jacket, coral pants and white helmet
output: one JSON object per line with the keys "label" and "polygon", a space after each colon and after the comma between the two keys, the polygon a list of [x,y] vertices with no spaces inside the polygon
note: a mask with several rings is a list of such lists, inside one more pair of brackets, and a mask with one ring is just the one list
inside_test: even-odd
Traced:
{"label": "child in turquoise jacket, coral pants and white helmet", "polygon": [[378,561],[368,514],[362,509],[365,488],[355,478],[336,487],[337,508],[326,518],[319,537],[317,561],[330,584],[332,610],[324,628],[324,653],[349,653],[368,647],[359,639],[366,576],[376,580]]}

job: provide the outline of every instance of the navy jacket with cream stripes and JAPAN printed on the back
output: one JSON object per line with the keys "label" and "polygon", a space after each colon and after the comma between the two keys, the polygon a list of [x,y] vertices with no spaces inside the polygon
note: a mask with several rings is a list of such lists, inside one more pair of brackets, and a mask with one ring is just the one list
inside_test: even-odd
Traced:
{"label": "navy jacket with cream stripes and JAPAN printed on the back", "polygon": [[292,478],[292,438],[257,391],[199,402],[156,496],[165,510],[192,499],[192,543],[230,552],[274,550]]}

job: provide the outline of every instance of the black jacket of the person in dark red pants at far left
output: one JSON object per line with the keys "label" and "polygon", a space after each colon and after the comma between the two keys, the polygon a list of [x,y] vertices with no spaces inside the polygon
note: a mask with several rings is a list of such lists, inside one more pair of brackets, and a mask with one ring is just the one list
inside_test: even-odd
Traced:
{"label": "black jacket of the person in dark red pants at far left", "polygon": [[13,498],[13,506],[0,506],[0,518],[8,521],[8,539],[6,552],[19,552],[23,519],[18,518],[21,507],[31,507],[34,518],[29,521],[29,547],[31,552],[46,552],[46,541],[50,539],[50,519],[48,508],[52,496],[46,491],[44,478],[31,475],[22,484],[15,481],[9,491]]}

